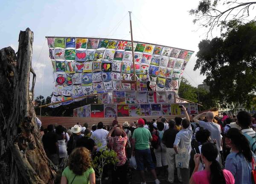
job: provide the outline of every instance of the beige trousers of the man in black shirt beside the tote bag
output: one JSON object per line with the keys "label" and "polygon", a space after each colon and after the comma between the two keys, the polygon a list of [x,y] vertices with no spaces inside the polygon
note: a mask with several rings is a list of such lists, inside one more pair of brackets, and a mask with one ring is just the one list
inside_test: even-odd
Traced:
{"label": "beige trousers of the man in black shirt beside the tote bag", "polygon": [[[175,170],[175,150],[173,148],[166,148],[166,158],[168,163],[168,181],[170,183],[174,182],[174,170]],[[182,181],[181,175],[180,175],[180,168],[177,168],[177,175],[178,180]]]}

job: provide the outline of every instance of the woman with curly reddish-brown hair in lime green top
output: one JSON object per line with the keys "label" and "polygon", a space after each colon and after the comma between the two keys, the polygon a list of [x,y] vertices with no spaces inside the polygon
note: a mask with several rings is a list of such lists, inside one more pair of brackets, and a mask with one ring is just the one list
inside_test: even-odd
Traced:
{"label": "woman with curly reddish-brown hair in lime green top", "polygon": [[61,176],[61,184],[95,184],[95,173],[91,167],[90,151],[77,147],[69,156],[68,167]]}

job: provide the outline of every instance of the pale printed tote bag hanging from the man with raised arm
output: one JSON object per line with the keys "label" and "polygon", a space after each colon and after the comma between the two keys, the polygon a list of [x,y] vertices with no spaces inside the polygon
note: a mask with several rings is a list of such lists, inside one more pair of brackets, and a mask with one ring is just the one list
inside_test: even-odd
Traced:
{"label": "pale printed tote bag hanging from the man with raised arm", "polygon": [[[183,143],[183,142],[182,142]],[[181,149],[178,150],[178,154],[175,155],[175,164],[177,168],[189,168],[190,155],[186,150],[184,144]]]}

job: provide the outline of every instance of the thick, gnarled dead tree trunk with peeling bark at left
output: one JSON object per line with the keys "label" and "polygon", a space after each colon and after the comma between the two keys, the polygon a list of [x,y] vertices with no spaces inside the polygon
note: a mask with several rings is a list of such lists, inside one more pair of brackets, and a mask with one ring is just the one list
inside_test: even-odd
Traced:
{"label": "thick, gnarled dead tree trunk with peeling bark at left", "polygon": [[54,183],[29,99],[33,35],[20,31],[17,55],[11,47],[0,50],[0,184]]}

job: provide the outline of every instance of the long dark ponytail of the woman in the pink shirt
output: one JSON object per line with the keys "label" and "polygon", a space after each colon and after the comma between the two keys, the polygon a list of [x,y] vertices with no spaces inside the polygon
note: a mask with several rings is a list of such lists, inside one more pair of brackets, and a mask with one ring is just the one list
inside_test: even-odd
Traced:
{"label": "long dark ponytail of the woman in the pink shirt", "polygon": [[226,179],[224,177],[221,164],[219,164],[218,161],[212,161],[212,164],[210,165],[210,170],[210,184],[226,184]]}

